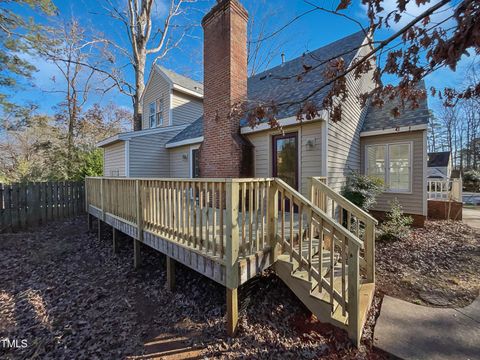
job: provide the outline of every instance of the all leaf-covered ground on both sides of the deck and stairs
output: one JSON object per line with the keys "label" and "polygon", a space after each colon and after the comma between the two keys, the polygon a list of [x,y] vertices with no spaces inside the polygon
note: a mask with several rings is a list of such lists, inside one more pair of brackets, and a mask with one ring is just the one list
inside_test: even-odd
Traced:
{"label": "all leaf-covered ground on both sides of the deck and stairs", "polygon": [[[445,240],[423,244],[433,228],[447,225]],[[462,236],[447,239],[459,231]],[[0,235],[0,339],[28,344],[6,349],[0,343],[0,358],[383,359],[372,348],[383,293],[418,300],[425,284],[427,290],[438,284],[437,276],[442,283],[452,278],[444,288],[464,294],[455,299],[473,298],[475,281],[478,291],[478,234],[462,225],[427,224],[416,241],[377,244],[379,291],[359,350],[343,331],[309,316],[271,272],[240,289],[239,332],[229,338],[223,287],[178,265],[170,292],[163,255],[143,247],[142,266],[134,270],[131,239],[121,238],[114,255],[111,234],[104,234],[98,240],[77,218]],[[447,245],[454,249],[440,251]]]}

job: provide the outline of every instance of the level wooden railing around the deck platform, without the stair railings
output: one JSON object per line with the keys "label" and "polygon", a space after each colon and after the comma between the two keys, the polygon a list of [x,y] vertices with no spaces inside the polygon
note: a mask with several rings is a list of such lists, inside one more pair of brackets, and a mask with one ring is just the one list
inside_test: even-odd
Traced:
{"label": "level wooden railing around the deck platform, without the stair railings", "polygon": [[[87,204],[217,261],[268,249],[273,179],[87,178]],[[232,255],[233,254],[233,255]]]}

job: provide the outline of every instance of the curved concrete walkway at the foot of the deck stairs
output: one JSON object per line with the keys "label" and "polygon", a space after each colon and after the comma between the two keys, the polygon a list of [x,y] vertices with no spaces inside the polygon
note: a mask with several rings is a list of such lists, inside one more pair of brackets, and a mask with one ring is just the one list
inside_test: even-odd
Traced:
{"label": "curved concrete walkway at the foot of the deck stairs", "polygon": [[377,348],[403,359],[480,359],[480,297],[441,309],[385,296],[374,336]]}

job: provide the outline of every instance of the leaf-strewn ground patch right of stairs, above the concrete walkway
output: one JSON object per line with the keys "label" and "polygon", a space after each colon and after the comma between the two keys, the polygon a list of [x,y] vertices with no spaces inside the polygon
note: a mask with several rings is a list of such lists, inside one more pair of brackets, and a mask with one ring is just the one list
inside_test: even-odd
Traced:
{"label": "leaf-strewn ground patch right of stairs, above the concrete walkway", "polygon": [[463,307],[480,289],[480,231],[427,221],[405,239],[376,244],[377,288],[428,306]]}

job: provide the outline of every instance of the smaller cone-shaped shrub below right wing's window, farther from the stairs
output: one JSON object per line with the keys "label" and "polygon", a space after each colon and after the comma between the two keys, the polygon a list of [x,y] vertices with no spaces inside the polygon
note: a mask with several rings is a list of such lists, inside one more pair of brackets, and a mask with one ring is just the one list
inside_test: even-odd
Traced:
{"label": "smaller cone-shaped shrub below right wing's window, farther from the stairs", "polygon": [[413,218],[403,214],[402,205],[396,198],[390,202],[390,206],[391,209],[379,228],[380,240],[399,240],[409,236]]}

